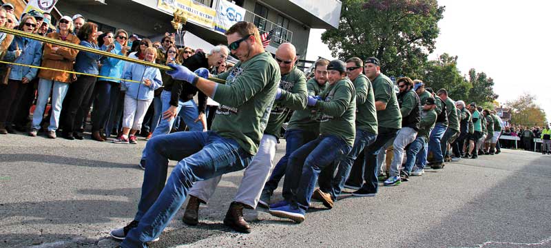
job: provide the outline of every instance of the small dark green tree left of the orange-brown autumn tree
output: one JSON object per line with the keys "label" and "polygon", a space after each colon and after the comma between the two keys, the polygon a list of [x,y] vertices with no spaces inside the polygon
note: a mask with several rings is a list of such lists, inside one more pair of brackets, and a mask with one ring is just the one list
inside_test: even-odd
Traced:
{"label": "small dark green tree left of the orange-brown autumn tree", "polygon": [[494,93],[494,80],[484,72],[477,73],[475,69],[469,70],[469,83],[472,88],[469,90],[469,99],[479,105],[491,104],[498,95]]}

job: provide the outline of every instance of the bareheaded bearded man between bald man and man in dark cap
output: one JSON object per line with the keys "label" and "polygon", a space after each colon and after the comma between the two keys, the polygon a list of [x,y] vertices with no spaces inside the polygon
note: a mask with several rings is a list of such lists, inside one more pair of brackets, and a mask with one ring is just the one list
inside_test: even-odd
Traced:
{"label": "bareheaded bearded man between bald man and man in dark cap", "polygon": [[[306,82],[306,89],[309,96],[321,94],[327,84],[326,59],[318,59],[314,63],[314,77]],[[320,136],[320,123],[315,120],[316,110],[304,107],[302,110],[295,110],[285,130],[285,155],[275,165],[269,180],[264,184],[258,205],[268,208],[273,191],[278,188],[281,178],[285,175],[289,156],[302,145],[313,141]]]}

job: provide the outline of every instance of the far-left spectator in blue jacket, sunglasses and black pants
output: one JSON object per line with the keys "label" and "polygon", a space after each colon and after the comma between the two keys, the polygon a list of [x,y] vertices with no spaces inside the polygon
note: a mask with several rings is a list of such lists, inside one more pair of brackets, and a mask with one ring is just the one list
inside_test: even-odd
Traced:
{"label": "far-left spectator in blue jacket, sunglasses and black pants", "polygon": [[[32,33],[37,27],[37,20],[30,15],[25,15],[19,24],[19,30]],[[42,58],[42,43],[25,37],[14,37],[5,61],[14,61],[24,65],[39,66]],[[15,134],[12,120],[19,105],[19,99],[28,87],[32,79],[37,76],[38,69],[28,66],[10,65],[11,72],[8,75],[8,85],[0,92],[0,133]],[[3,75],[2,75],[3,76]]]}

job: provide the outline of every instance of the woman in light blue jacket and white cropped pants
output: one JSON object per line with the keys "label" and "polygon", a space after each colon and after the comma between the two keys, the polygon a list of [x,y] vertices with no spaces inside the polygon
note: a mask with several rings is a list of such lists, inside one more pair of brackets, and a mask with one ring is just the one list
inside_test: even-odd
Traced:
{"label": "woman in light blue jacket and white cropped pants", "polygon": [[[145,61],[155,62],[155,48],[145,50]],[[121,90],[126,92],[125,111],[123,114],[123,134],[113,141],[117,144],[136,144],[136,132],[141,129],[143,117],[153,101],[154,91],[163,85],[160,71],[145,65],[129,65],[123,74],[123,79],[140,81],[141,83],[123,81]]]}

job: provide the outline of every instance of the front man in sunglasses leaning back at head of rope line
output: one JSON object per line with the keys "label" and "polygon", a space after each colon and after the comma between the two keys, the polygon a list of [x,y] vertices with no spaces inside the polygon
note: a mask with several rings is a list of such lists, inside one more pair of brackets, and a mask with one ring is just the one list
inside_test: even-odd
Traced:
{"label": "front man in sunglasses leaning back at head of rope line", "polygon": [[[124,239],[121,247],[145,247],[146,242],[158,240],[195,182],[245,169],[258,152],[278,91],[280,68],[264,52],[253,23],[240,21],[226,36],[229,49],[240,61],[230,72],[218,75],[225,84],[208,80],[205,68],[194,73],[169,64],[174,70],[167,74],[196,86],[220,103],[220,108],[209,132],[176,132],[147,142],[138,212],[126,227],[111,231],[113,238]],[[167,180],[169,160],[179,162]]]}

